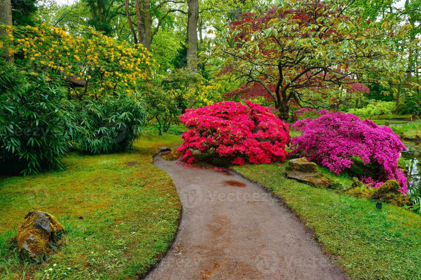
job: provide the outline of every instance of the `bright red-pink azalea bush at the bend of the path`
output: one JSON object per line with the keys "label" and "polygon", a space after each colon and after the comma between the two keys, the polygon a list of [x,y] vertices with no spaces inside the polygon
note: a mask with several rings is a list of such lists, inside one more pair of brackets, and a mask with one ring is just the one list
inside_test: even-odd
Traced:
{"label": "bright red-pink azalea bush at the bend of the path", "polygon": [[188,109],[180,116],[187,127],[181,138],[182,158],[192,163],[191,149],[214,151],[232,164],[284,161],[290,142],[288,126],[266,107],[246,101],[218,102]]}

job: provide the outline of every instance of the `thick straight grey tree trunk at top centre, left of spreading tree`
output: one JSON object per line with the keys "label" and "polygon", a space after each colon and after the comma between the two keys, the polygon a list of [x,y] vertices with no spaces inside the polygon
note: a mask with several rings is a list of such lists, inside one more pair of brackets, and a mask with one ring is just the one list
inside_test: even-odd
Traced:
{"label": "thick straight grey tree trunk at top centre, left of spreading tree", "polygon": [[189,0],[187,20],[187,68],[197,73],[197,19],[199,17],[198,0]]}

